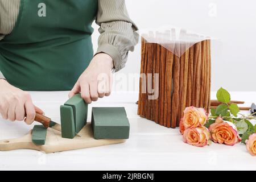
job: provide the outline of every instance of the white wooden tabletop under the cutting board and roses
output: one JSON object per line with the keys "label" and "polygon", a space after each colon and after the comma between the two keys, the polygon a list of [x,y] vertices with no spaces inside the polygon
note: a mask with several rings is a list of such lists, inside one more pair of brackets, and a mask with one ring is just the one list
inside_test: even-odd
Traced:
{"label": "white wooden tabletop under the cutting board and roses", "polygon": [[[35,105],[53,121],[60,122],[59,106],[68,99],[68,92],[30,93]],[[212,98],[215,94],[212,92]],[[232,92],[231,95],[232,100],[245,101],[245,106],[256,102],[256,92]],[[88,113],[94,106],[125,106],[131,126],[130,139],[125,143],[54,154],[34,150],[0,151],[0,170],[256,169],[256,158],[246,151],[244,144],[233,147],[215,143],[203,148],[189,146],[183,143],[179,129],[168,129],[139,117],[135,104],[137,99],[137,93],[112,93],[112,96],[89,105]],[[9,122],[0,118],[0,139],[22,137],[32,127],[24,122]]]}

